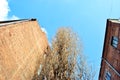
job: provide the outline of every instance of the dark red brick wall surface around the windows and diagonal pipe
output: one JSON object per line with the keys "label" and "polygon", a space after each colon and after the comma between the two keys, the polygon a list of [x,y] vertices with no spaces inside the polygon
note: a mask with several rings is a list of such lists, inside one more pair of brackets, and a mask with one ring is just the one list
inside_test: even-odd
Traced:
{"label": "dark red brick wall surface around the windows and diagonal pipe", "polygon": [[[120,77],[112,70],[108,64],[105,63],[104,59],[114,67],[120,73],[120,23],[107,22],[106,36],[103,50],[103,60],[101,63],[101,70],[99,80],[104,80],[105,71],[109,71],[111,74],[111,80],[120,80]],[[119,38],[118,48],[114,48],[111,45],[112,36]]]}

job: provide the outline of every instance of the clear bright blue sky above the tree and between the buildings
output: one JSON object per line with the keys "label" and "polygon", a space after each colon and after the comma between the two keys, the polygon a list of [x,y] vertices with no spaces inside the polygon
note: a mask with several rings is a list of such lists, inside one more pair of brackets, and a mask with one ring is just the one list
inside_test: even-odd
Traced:
{"label": "clear bright blue sky above the tree and between the buildings", "polygon": [[97,80],[106,19],[120,18],[120,0],[8,0],[8,7],[8,19],[37,18],[49,41],[58,27],[72,27],[82,40],[88,62],[97,71]]}

